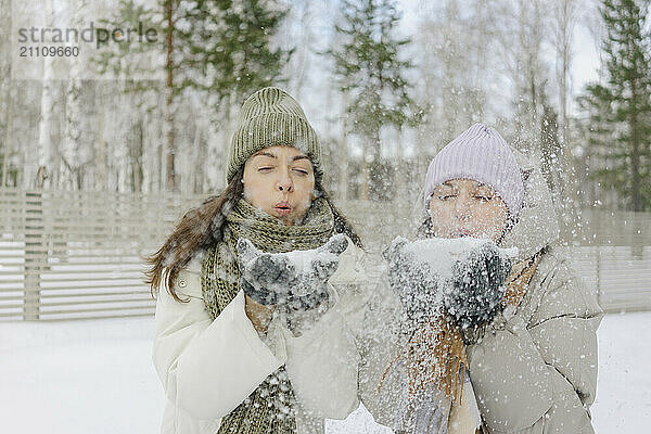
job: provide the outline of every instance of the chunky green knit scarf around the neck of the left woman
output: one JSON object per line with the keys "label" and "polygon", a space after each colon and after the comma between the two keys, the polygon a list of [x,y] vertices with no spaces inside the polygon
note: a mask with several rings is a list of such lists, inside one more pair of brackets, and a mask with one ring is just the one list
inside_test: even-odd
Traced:
{"label": "chunky green knit scarf around the neck of the left woman", "polygon": [[[208,250],[202,263],[201,285],[206,310],[215,319],[240,292],[240,267],[235,245],[248,239],[268,253],[310,250],[332,235],[334,217],[323,199],[312,201],[302,225],[285,226],[243,199],[228,210],[224,237]],[[233,411],[221,419],[217,434],[294,434],[295,396],[284,366],[263,383]]]}

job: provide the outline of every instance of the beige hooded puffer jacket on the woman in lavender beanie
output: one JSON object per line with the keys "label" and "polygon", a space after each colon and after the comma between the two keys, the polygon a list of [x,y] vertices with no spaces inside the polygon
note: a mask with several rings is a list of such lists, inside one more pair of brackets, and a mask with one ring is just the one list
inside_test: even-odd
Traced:
{"label": "beige hooded puffer jacket on the woman in lavender beanie", "polygon": [[468,348],[470,379],[488,433],[593,433],[597,328],[602,310],[567,258],[553,247],[559,227],[551,194],[534,166],[520,221],[502,241],[519,259],[546,248],[526,294]]}

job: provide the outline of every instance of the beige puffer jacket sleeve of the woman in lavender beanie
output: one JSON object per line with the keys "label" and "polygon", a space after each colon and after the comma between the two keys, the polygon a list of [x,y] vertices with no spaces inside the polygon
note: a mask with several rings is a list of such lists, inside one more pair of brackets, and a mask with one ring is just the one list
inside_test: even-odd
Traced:
{"label": "beige puffer jacket sleeve of the woman in lavender beanie", "polygon": [[540,279],[533,316],[501,317],[469,347],[477,404],[490,432],[592,433],[601,309],[565,263]]}

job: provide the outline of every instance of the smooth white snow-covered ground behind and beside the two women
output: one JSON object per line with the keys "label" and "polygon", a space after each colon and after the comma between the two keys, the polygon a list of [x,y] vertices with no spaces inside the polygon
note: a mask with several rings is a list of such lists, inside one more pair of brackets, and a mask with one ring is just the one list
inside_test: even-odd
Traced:
{"label": "smooth white snow-covered ground behind and beside the two women", "polygon": [[[153,321],[0,323],[4,433],[157,433],[165,398],[151,365]],[[597,432],[651,426],[651,312],[608,316],[599,330]],[[328,433],[390,433],[363,410]]]}

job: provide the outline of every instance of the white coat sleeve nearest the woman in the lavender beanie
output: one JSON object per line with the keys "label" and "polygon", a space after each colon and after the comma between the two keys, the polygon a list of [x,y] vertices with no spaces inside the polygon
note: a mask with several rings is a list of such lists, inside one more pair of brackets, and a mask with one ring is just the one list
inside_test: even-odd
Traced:
{"label": "white coat sleeve nearest the woman in the lavender beanie", "polygon": [[[337,416],[329,418],[345,418],[357,409],[360,400],[379,423],[387,423],[390,414],[395,412],[391,403],[380,399],[380,382],[395,354],[393,340],[399,324],[399,302],[386,284],[386,270],[382,264],[381,258],[369,255],[349,241],[330,279],[337,302],[329,312],[331,319],[323,321],[329,331],[317,332],[322,339],[311,344],[321,345],[322,352],[308,352],[314,354],[314,360],[320,354],[322,356],[318,357],[331,360],[322,365],[322,369],[329,371],[323,371],[322,376],[329,380],[318,383],[323,388],[320,394],[312,391],[311,399],[317,403],[319,398],[320,407],[332,408],[335,403],[327,406],[328,397],[341,397],[340,408],[331,412]],[[286,342],[288,359],[291,360],[295,355],[294,342],[291,339]],[[310,344],[306,342],[303,347],[308,349]],[[309,365],[318,366],[316,362]],[[288,369],[291,366],[289,361]]]}

